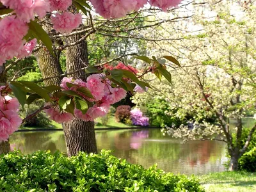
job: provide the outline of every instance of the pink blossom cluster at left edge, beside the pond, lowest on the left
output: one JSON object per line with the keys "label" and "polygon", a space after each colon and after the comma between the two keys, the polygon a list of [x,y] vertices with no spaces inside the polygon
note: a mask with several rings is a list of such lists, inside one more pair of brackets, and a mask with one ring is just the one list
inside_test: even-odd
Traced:
{"label": "pink blossom cluster at left edge, beside the pond, lowest on the left", "polygon": [[8,95],[0,95],[0,142],[7,141],[10,134],[17,131],[22,123],[19,117],[19,101]]}

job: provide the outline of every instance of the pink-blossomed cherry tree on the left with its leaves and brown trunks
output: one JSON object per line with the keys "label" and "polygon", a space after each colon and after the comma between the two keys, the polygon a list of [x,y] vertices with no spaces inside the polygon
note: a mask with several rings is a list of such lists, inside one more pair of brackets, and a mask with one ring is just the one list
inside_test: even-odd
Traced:
{"label": "pink-blossomed cherry tree on the left with its leaves and brown trunks", "polygon": [[[127,92],[133,93],[136,84],[143,90],[146,90],[147,87],[150,88],[150,85],[142,78],[152,70],[163,73],[166,79],[170,81],[170,73],[166,71],[165,65],[157,61],[156,58],[138,57],[138,59],[146,61],[149,67],[138,74],[127,67],[122,69],[104,68],[102,64],[88,67],[88,63],[86,63],[88,61],[88,51],[84,41],[86,37],[95,31],[100,31],[99,29],[101,29],[102,35],[115,36],[115,33],[113,34],[113,31],[104,28],[106,24],[109,24],[109,21],[104,19],[98,19],[101,22],[97,25],[92,23],[89,28],[83,28],[81,24],[85,16],[82,15],[87,15],[87,18],[90,18],[88,20],[92,21],[91,11],[93,8],[95,12],[106,19],[118,20],[119,17],[124,17],[127,13],[140,10],[147,3],[150,4],[149,9],[152,9],[151,6],[153,6],[154,10],[160,12],[162,9],[166,11],[168,8],[177,6],[180,0],[132,0],[129,2],[124,0],[115,2],[108,0],[0,1],[0,79],[3,83],[0,104],[0,152],[8,152],[8,137],[26,120],[26,118],[21,120],[17,115],[18,102],[24,106],[24,104],[31,104],[37,99],[45,100],[45,106],[36,112],[45,110],[52,120],[63,123],[64,126],[67,124],[67,129],[64,129],[64,132],[68,156],[70,156],[75,155],[79,150],[88,152],[97,150],[96,148],[81,147],[77,138],[81,140],[86,134],[77,135],[84,128],[80,126],[81,128],[76,130],[81,121],[76,120],[75,124],[68,124],[70,121],[74,122],[74,117],[93,124],[95,118],[107,113],[110,104],[124,98]],[[131,20],[128,24],[132,22],[131,18],[128,19]],[[118,28],[115,29],[115,31],[119,30]],[[129,33],[127,34],[129,35]],[[58,67],[56,63],[58,63],[60,52],[64,49],[67,49],[65,51],[67,72],[62,74],[60,66]],[[6,82],[6,72],[13,66],[19,65],[19,61],[32,52],[36,54],[45,86],[41,87],[28,81]],[[13,58],[15,60],[10,62],[10,65],[4,64]],[[177,63],[173,58],[165,57],[165,59]],[[42,65],[42,63],[47,65]],[[69,77],[62,79],[64,76]],[[60,81],[61,79],[62,81]],[[10,93],[13,93],[15,98],[9,97]],[[83,125],[86,128],[86,124]],[[94,134],[88,134],[88,136],[95,137]],[[90,141],[88,142],[90,144]],[[89,144],[84,143],[84,145]]]}

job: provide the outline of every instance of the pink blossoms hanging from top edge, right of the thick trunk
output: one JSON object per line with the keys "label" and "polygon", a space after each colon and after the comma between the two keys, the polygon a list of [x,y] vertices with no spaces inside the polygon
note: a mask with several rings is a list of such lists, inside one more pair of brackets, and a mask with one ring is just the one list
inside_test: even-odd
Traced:
{"label": "pink blossoms hanging from top edge, right of the thick trunk", "polygon": [[139,10],[145,4],[157,6],[164,11],[176,7],[182,0],[90,0],[96,12],[106,19],[124,17],[133,10]]}

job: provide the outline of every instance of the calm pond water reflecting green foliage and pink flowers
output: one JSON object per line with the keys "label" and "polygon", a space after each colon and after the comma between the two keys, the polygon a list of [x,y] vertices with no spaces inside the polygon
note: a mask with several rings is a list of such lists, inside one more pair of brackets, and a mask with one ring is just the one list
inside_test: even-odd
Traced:
{"label": "calm pond water reflecting green foliage and pink flowers", "polygon": [[[166,172],[204,174],[224,170],[225,143],[220,141],[190,141],[163,136],[159,129],[127,129],[96,131],[97,147],[113,150],[113,155],[138,163],[145,168],[158,164]],[[15,132],[11,148],[29,154],[36,150],[66,152],[62,131]]]}

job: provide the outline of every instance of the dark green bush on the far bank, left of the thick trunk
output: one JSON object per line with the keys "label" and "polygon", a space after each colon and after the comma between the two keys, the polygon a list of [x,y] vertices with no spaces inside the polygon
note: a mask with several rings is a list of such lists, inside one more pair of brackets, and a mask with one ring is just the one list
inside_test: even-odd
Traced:
{"label": "dark green bush on the far bank, left of the thick trunk", "polygon": [[[42,106],[42,104],[44,104],[44,102],[41,100],[38,100],[35,102],[35,104],[30,104],[29,106],[25,105],[23,109],[20,108],[20,110],[19,110],[20,117],[25,118],[26,116],[34,113],[36,110],[38,110],[40,108],[40,106]],[[36,116],[29,118],[24,123],[24,127],[40,127],[40,128],[42,128],[42,127],[46,127],[50,123],[51,123],[51,121],[49,120],[47,115],[45,115],[44,112],[40,112]]]}

